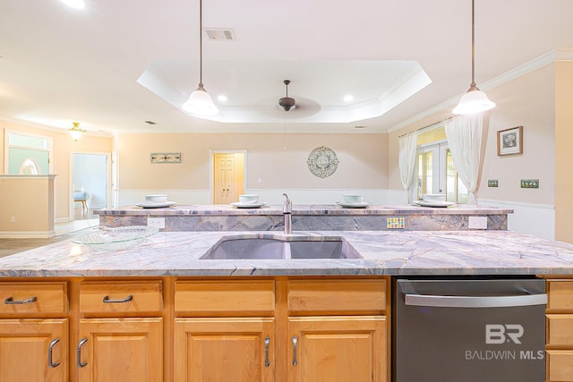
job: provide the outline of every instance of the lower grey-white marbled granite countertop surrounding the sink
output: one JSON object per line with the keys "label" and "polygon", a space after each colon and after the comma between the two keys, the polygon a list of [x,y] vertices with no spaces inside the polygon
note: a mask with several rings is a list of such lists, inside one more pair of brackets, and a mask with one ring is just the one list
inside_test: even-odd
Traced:
{"label": "lower grey-white marbled granite countertop surrounding the sink", "polygon": [[510,231],[329,231],[363,259],[199,259],[223,236],[269,232],[161,232],[131,250],[97,252],[70,240],[0,259],[0,276],[567,275],[573,245]]}

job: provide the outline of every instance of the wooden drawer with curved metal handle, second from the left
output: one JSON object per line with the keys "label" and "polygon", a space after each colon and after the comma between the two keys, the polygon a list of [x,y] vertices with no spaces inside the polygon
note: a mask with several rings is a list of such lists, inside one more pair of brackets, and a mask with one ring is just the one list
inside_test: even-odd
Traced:
{"label": "wooden drawer with curved metal handle, second from the left", "polygon": [[162,309],[161,281],[86,282],[80,286],[82,313],[131,313]]}

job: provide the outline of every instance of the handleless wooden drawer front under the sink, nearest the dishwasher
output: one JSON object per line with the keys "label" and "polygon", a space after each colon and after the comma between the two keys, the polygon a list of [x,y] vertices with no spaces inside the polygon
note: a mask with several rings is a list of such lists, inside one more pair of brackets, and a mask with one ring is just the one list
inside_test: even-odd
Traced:
{"label": "handleless wooden drawer front under the sink, nearest the dishwasher", "polygon": [[290,280],[290,314],[382,314],[386,310],[386,280]]}

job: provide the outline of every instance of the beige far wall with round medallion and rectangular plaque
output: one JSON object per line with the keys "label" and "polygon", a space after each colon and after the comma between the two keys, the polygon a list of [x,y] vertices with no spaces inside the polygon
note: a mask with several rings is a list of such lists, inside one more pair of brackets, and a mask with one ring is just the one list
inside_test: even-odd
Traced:
{"label": "beige far wall with round medallion and rectangular plaque", "polygon": [[[117,140],[120,190],[208,190],[209,150],[247,150],[247,188],[388,188],[387,134],[122,134]],[[326,146],[339,165],[328,178],[306,159]],[[151,165],[151,152],[181,152],[179,165]],[[261,180],[261,183],[259,183]]]}

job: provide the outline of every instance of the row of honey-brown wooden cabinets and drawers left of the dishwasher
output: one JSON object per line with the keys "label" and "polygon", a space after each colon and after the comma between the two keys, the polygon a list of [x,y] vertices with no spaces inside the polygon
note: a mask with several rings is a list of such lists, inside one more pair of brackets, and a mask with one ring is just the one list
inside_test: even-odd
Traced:
{"label": "row of honey-brown wooden cabinets and drawers left of the dishwasher", "polygon": [[389,380],[386,278],[29,280],[0,283],[0,382]]}

